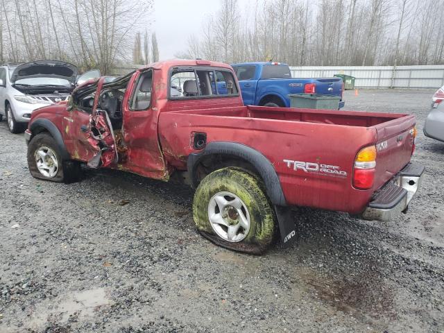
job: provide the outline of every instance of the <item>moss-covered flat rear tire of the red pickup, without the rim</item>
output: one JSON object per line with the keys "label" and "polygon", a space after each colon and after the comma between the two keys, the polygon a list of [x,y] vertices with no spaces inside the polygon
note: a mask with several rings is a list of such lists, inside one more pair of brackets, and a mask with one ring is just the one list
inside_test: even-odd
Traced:
{"label": "moss-covered flat rear tire of the red pickup, without the rim", "polygon": [[[240,198],[241,203],[244,205],[243,207],[248,212],[244,216],[249,216],[249,231],[245,232],[242,227],[239,229],[241,230],[239,232],[240,237],[244,237],[240,241],[229,241],[227,237],[224,239],[216,232],[217,227],[214,228],[210,222],[209,212],[213,209],[210,202],[219,194],[224,195],[226,192]],[[224,208],[224,212],[226,212],[226,207],[232,209],[231,205],[227,205]],[[217,210],[219,210],[219,207],[216,207]],[[230,219],[230,222],[228,222],[230,226],[232,225],[230,223],[235,221],[231,220],[230,213],[216,212],[216,214],[220,214],[220,217],[225,216],[225,219],[223,219],[224,223],[226,219]],[[276,239],[277,224],[275,222],[275,211],[265,194],[262,180],[245,169],[228,167],[216,170],[206,176],[200,182],[196,189],[196,194],[194,194],[193,216],[198,231],[204,237],[210,239],[214,244],[231,250],[259,255],[264,253]],[[226,227],[225,225],[219,225],[223,230],[227,228],[225,232],[227,235],[228,225]],[[234,237],[238,237],[239,234],[236,234]]]}

